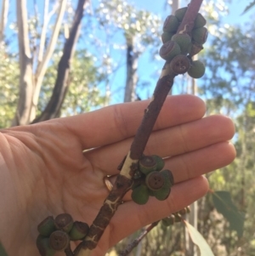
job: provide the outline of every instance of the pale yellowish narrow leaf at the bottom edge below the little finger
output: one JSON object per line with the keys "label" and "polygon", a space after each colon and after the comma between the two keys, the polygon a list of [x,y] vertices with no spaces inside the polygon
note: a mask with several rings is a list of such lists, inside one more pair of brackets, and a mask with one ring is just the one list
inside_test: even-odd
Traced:
{"label": "pale yellowish narrow leaf at the bottom edge below the little finger", "polygon": [[190,225],[190,223],[188,223],[185,220],[184,224],[186,225],[189,231],[192,242],[194,242],[195,245],[199,247],[200,256],[214,256],[214,254],[212,253],[212,249],[209,247],[205,238],[201,236],[201,233],[199,233],[198,230],[196,230],[193,225]]}

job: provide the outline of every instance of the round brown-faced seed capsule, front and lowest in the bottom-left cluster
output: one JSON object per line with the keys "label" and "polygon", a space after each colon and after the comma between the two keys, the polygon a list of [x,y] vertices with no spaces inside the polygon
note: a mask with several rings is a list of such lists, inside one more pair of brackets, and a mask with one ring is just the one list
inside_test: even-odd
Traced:
{"label": "round brown-faced seed capsule, front and lowest in the bottom-left cluster", "polygon": [[49,247],[55,251],[64,251],[70,242],[69,236],[62,230],[55,230],[49,236]]}

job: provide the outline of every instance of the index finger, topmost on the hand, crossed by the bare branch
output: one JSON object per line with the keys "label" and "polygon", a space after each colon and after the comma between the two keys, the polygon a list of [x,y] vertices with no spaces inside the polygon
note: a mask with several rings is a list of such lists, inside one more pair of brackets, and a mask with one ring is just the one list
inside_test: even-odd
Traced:
{"label": "index finger, topmost on the hand, crossed by the bare branch", "polygon": [[[108,145],[135,134],[150,100],[111,105],[75,117],[60,118],[72,134],[76,134],[84,149]],[[156,122],[155,129],[196,120],[205,114],[204,102],[192,95],[167,97]]]}

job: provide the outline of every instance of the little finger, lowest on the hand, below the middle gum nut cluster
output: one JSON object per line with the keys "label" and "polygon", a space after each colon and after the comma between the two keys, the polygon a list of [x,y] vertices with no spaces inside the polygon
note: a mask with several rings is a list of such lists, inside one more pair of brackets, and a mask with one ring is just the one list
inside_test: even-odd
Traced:
{"label": "little finger, lowest on the hand, below the middle gum nut cluster", "polygon": [[151,198],[144,206],[134,202],[125,202],[116,211],[111,220],[110,229],[106,230],[106,236],[110,235],[107,232],[111,231],[111,236],[109,236],[111,237],[110,246],[132,234],[135,230],[139,230],[145,225],[163,219],[170,213],[177,212],[190,205],[201,198],[201,196],[204,196],[207,191],[207,179],[198,177],[174,185],[170,196],[165,201]]}

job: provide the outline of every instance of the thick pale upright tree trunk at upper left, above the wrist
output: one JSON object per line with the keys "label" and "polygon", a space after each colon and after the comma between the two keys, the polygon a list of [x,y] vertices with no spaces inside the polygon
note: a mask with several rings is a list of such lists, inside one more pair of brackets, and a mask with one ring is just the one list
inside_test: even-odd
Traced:
{"label": "thick pale upright tree trunk at upper left, above the wrist", "polygon": [[17,24],[20,54],[20,97],[13,126],[25,125],[30,121],[33,95],[31,50],[28,37],[26,0],[17,0]]}

